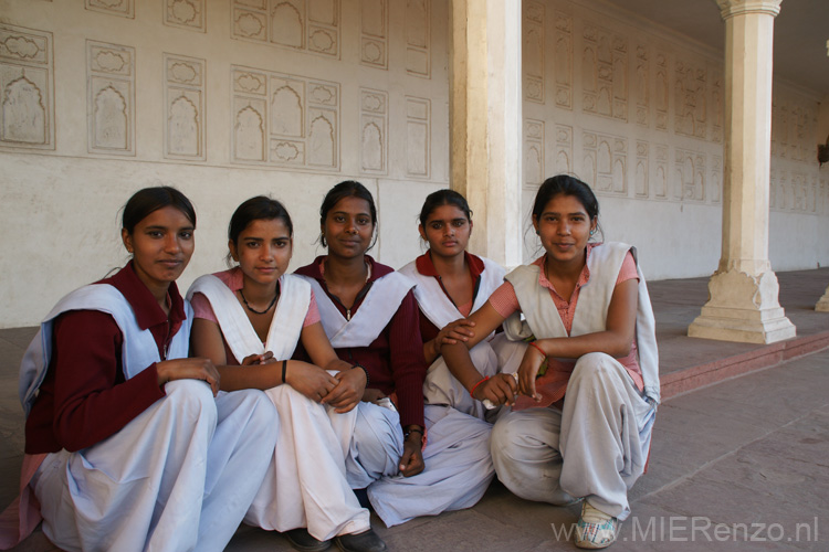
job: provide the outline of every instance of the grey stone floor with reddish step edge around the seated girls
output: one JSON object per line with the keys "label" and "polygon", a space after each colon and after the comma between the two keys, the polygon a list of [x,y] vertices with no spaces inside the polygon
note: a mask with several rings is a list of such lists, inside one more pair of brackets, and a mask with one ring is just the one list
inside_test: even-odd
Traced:
{"label": "grey stone floor with reddish step edge around the seated girls", "polygon": [[[707,279],[650,284],[669,399],[649,471],[630,492],[633,513],[610,550],[829,550],[829,314],[814,310],[829,268],[778,279],[798,336],[772,346],[688,338]],[[17,495],[17,369],[32,335],[0,330],[0,508]],[[372,524],[393,551],[576,550],[578,511],[518,499],[495,481],[469,510]],[[38,531],[14,550],[56,549]],[[227,550],[292,549],[276,533],[241,527]]]}

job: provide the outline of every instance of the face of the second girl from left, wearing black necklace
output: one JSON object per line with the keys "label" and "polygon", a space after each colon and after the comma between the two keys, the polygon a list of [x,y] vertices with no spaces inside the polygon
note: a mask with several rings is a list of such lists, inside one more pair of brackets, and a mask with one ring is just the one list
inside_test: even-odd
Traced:
{"label": "face of the second girl from left, wearing black necklace", "polygon": [[291,263],[291,231],[282,219],[256,219],[228,243],[230,255],[239,263],[245,280],[276,285]]}

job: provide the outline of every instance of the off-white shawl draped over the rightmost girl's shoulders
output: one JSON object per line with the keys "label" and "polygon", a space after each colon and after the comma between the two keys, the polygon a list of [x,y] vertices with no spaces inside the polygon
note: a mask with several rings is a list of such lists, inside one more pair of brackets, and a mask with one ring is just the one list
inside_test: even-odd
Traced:
{"label": "off-white shawl draped over the rightmost girl's shoulders", "polygon": [[[573,317],[570,336],[581,336],[604,331],[607,311],[619,277],[619,269],[628,251],[633,255],[639,276],[636,340],[639,352],[639,368],[642,371],[644,392],[655,403],[660,401],[659,350],[657,347],[655,320],[651,307],[648,286],[639,267],[636,247],[617,242],[595,246],[590,251],[587,267],[590,279],[581,287]],[[538,285],[541,267],[522,265],[505,276],[515,288],[518,304],[526,318],[521,321],[515,312],[504,322],[510,339],[526,339],[535,336],[538,339],[567,337],[562,317],[558,315],[549,290]],[[526,308],[525,308],[526,307]]]}

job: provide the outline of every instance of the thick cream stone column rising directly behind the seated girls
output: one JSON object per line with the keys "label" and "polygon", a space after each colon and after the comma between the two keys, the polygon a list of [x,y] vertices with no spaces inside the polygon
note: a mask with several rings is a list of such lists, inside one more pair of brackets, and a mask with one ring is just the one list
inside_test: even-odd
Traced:
{"label": "thick cream stone column rising directly behind the seated girls", "polygon": [[521,2],[452,0],[451,187],[466,197],[470,250],[521,264]]}

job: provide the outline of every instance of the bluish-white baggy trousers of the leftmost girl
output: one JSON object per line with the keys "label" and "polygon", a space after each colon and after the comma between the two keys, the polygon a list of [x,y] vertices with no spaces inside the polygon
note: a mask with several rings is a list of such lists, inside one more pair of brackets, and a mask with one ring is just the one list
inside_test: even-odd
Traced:
{"label": "bluish-white baggy trousers of the leftmost girl", "polygon": [[166,384],[115,435],[50,454],[32,479],[43,532],[67,551],[220,551],[259,490],[279,432],[260,391]]}

